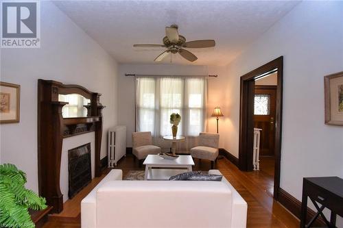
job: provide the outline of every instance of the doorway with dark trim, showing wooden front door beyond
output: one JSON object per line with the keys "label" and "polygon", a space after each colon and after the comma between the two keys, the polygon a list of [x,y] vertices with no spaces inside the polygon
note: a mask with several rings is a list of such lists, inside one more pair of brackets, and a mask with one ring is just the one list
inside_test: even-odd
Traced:
{"label": "doorway with dark trim, showing wooden front door beyond", "polygon": [[[274,84],[261,83],[271,75],[274,75]],[[253,170],[254,132],[261,129],[259,160],[261,168],[274,178],[276,200],[280,186],[282,88],[282,56],[241,76],[239,169]]]}

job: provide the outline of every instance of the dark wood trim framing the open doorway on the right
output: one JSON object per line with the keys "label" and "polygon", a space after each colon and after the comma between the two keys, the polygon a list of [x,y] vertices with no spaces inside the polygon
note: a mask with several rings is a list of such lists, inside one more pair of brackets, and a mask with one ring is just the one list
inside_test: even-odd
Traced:
{"label": "dark wood trim framing the open doorway on the right", "polygon": [[[239,111],[239,169],[252,170],[253,144],[253,90],[255,79],[277,68],[276,86],[276,115],[275,115],[275,170],[274,170],[274,199],[279,199],[280,166],[281,166],[281,134],[282,134],[282,105],[283,105],[283,56],[256,68],[241,76],[240,111]],[[252,86],[253,85],[253,86]]]}

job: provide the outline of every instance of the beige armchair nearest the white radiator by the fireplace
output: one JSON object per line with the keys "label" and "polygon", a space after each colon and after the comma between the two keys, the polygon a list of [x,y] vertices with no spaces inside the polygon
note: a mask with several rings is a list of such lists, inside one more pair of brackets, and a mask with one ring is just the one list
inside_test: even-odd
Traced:
{"label": "beige armchair nearest the white radiator by the fireplace", "polygon": [[132,132],[132,154],[138,160],[143,160],[149,154],[161,153],[161,148],[152,144],[152,135],[150,131]]}

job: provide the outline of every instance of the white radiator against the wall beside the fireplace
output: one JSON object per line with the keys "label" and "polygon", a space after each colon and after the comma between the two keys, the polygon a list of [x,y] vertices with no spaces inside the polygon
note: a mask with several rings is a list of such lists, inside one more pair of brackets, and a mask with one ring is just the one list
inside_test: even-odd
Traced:
{"label": "white radiator against the wall beside the fireplace", "polygon": [[108,167],[117,166],[121,157],[126,156],[126,126],[113,127],[108,131]]}

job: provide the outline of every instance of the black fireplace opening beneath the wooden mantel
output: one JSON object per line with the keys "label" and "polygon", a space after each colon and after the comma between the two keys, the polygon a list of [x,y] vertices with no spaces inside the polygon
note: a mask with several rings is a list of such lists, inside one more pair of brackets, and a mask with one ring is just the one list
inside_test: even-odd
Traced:
{"label": "black fireplace opening beneath the wooden mantel", "polygon": [[69,199],[80,192],[92,179],[91,143],[68,151]]}

